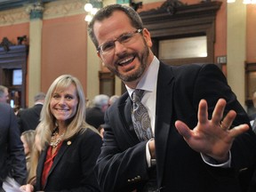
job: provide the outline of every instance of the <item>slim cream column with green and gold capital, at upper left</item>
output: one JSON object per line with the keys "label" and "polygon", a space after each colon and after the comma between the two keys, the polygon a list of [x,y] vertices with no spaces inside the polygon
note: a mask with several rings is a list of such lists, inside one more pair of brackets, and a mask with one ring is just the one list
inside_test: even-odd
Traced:
{"label": "slim cream column with green and gold capital, at upper left", "polygon": [[28,107],[34,105],[34,96],[41,92],[41,42],[44,6],[29,4],[26,11],[30,15],[29,55],[28,55]]}

